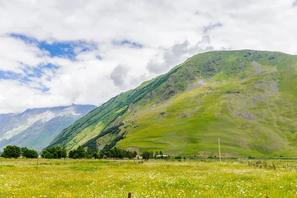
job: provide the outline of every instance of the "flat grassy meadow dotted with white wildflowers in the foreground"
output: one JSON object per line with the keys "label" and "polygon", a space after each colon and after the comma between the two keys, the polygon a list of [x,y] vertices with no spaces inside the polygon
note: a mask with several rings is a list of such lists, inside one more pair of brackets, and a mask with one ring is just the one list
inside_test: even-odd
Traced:
{"label": "flat grassy meadow dotted with white wildflowers in the foreground", "polygon": [[1,198],[297,197],[292,160],[0,160]]}

